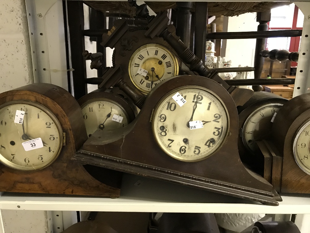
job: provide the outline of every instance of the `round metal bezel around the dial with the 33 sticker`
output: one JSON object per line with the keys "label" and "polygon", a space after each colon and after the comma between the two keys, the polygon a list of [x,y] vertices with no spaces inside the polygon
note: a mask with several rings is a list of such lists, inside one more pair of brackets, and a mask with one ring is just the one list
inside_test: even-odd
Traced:
{"label": "round metal bezel around the dial with the 33 sticker", "polygon": [[15,170],[19,170],[19,171],[37,171],[37,170],[41,170],[43,168],[46,168],[48,166],[50,166],[53,162],[55,162],[55,160],[58,158],[58,156],[60,155],[60,152],[62,150],[63,144],[64,144],[64,139],[63,139],[63,130],[61,128],[60,122],[58,121],[57,117],[55,117],[55,115],[45,106],[30,101],[30,100],[14,100],[14,101],[10,101],[7,103],[4,103],[0,106],[0,110],[3,107],[7,107],[9,105],[13,105],[13,104],[27,104],[33,107],[37,107],[38,109],[42,110],[43,112],[45,112],[49,117],[51,117],[52,121],[55,123],[55,126],[58,130],[58,138],[59,138],[59,147],[57,149],[57,153],[55,153],[54,158],[47,164],[43,164],[43,166],[31,166],[31,167],[24,167],[15,163],[12,163],[10,161],[8,161],[6,158],[4,158],[2,156],[2,154],[0,153],[0,162],[2,162],[4,165],[6,165],[7,167],[13,168]]}

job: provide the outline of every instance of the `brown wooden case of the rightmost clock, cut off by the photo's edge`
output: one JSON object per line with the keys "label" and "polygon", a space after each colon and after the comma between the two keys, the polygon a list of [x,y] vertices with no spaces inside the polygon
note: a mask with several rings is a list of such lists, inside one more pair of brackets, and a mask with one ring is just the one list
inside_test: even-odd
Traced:
{"label": "brown wooden case of the rightmost clock, cut off by the photo's edge", "polygon": [[[273,121],[272,153],[283,160],[278,166],[274,182],[281,193],[310,193],[310,175],[299,168],[295,162],[293,143],[296,133],[305,121],[310,119],[310,94],[292,98],[284,104]],[[309,146],[309,145],[308,145]]]}

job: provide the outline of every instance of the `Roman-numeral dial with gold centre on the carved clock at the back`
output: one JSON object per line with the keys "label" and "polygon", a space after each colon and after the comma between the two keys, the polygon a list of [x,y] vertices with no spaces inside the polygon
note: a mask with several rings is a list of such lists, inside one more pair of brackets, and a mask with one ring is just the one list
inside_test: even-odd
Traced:
{"label": "Roman-numeral dial with gold centre on the carved clock at the back", "polygon": [[144,94],[166,78],[179,73],[179,64],[170,51],[159,44],[138,48],[128,64],[131,82]]}

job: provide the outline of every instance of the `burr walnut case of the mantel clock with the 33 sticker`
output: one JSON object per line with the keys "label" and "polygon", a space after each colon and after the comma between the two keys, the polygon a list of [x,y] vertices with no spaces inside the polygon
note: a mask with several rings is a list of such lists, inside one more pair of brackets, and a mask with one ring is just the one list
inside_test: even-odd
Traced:
{"label": "burr walnut case of the mantel clock with the 33 sticker", "polygon": [[55,115],[65,133],[64,146],[57,159],[37,171],[19,171],[0,164],[0,191],[46,194],[78,194],[119,197],[113,179],[95,180],[71,157],[87,140],[82,111],[66,90],[52,84],[30,84],[0,94],[0,105],[15,100],[39,103]]}

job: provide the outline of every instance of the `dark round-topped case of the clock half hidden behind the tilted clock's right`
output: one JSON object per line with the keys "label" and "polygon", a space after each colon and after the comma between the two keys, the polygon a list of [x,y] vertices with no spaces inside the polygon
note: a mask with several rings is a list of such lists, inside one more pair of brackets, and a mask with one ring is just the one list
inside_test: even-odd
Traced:
{"label": "dark round-topped case of the clock half hidden behind the tilted clock's right", "polygon": [[[259,175],[266,179],[266,174],[264,175],[264,167],[266,160],[261,152],[253,153],[251,152],[242,141],[242,129],[248,117],[255,112],[258,108],[265,106],[267,104],[285,104],[288,100],[282,98],[276,94],[259,91],[255,92],[254,95],[243,105],[238,107],[238,117],[239,117],[239,135],[238,135],[238,150],[241,162],[250,167],[251,170],[255,171]],[[269,129],[270,130],[270,129]],[[269,140],[269,137],[264,138]],[[268,182],[271,182],[271,177],[267,178]]]}

